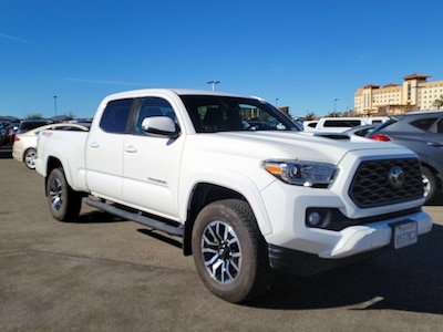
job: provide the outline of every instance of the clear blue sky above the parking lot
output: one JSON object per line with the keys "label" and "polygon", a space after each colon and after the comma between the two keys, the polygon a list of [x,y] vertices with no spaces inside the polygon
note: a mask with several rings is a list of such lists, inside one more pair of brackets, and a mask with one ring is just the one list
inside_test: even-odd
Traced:
{"label": "clear blue sky above the parking lot", "polygon": [[85,117],[110,93],[213,80],[296,116],[336,98],[343,112],[367,84],[443,80],[442,13],[441,0],[2,0],[0,115]]}

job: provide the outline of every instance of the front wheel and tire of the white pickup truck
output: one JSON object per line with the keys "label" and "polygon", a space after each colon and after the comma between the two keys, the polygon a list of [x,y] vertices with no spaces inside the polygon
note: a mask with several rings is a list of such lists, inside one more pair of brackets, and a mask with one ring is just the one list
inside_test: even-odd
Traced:
{"label": "front wheel and tire of the white pickup truck", "polygon": [[192,246],[197,272],[217,297],[239,303],[268,289],[272,273],[267,245],[247,203],[226,199],[203,208]]}

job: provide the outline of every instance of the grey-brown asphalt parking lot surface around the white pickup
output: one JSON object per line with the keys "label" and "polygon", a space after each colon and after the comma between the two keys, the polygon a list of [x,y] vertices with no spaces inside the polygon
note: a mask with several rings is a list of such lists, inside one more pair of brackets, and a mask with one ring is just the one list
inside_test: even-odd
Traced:
{"label": "grey-brown asphalt parking lot surface around the white pickup", "polygon": [[83,207],[54,220],[43,178],[0,149],[0,331],[441,331],[443,204],[415,246],[231,304],[179,239]]}

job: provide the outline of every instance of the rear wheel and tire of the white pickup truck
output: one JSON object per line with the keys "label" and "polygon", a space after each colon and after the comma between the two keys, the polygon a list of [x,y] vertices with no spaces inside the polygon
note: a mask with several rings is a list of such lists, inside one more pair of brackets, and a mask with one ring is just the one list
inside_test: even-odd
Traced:
{"label": "rear wheel and tire of the white pickup truck", "polygon": [[72,190],[63,168],[54,168],[47,180],[47,199],[52,217],[60,221],[76,218],[82,207],[82,196]]}

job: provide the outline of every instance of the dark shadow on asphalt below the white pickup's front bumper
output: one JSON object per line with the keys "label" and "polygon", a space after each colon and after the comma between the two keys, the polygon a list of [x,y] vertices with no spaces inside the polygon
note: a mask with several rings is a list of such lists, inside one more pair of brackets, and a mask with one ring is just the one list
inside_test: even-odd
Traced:
{"label": "dark shadow on asphalt below the white pickup's front bumper", "polygon": [[277,276],[250,307],[307,310],[402,310],[443,313],[443,226],[414,246],[310,278]]}

